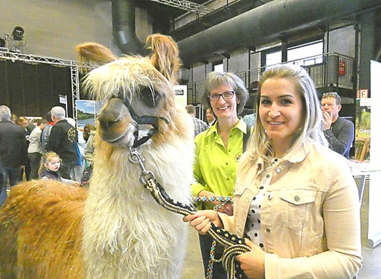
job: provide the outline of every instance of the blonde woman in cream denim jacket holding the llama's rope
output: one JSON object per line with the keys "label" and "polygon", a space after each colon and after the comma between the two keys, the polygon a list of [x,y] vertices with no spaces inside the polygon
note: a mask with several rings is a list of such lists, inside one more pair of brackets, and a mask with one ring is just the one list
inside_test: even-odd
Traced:
{"label": "blonde woman in cream denim jacket holding the llama's rope", "polygon": [[362,267],[358,191],[346,159],[327,147],[314,83],[280,65],[265,71],[258,94],[233,217],[203,210],[184,221],[247,238],[251,251],[236,260],[248,278],[352,278]]}

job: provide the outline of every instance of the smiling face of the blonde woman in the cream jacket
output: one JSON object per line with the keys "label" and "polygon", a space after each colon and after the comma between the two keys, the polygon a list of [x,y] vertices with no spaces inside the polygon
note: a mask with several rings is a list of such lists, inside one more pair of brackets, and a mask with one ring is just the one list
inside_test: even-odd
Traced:
{"label": "smiling face of the blonde woman in the cream jacket", "polygon": [[260,90],[259,115],[276,157],[290,149],[292,137],[301,126],[303,103],[294,82],[287,78],[269,78]]}

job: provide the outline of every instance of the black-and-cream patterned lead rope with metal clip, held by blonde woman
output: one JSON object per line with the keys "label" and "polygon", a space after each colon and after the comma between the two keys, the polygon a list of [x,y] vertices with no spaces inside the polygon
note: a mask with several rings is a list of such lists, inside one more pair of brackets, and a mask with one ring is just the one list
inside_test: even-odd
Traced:
{"label": "black-and-cream patterned lead rope with metal clip, held by blonde woman", "polygon": [[[196,210],[193,205],[179,203],[168,196],[166,190],[156,182],[152,171],[145,169],[143,164],[144,159],[141,157],[140,153],[136,151],[136,149],[132,149],[132,147],[130,147],[129,160],[133,164],[139,164],[141,167],[140,182],[145,189],[150,191],[150,194],[159,205],[166,208],[166,210],[184,216],[195,214]],[[250,251],[249,246],[245,244],[245,240],[237,235],[229,233],[227,230],[215,226],[214,223],[211,223],[211,228],[208,230],[208,233],[216,242],[225,247],[221,260],[222,266],[228,272],[229,279],[246,278],[245,273],[240,269],[240,264],[235,260],[237,255]]]}

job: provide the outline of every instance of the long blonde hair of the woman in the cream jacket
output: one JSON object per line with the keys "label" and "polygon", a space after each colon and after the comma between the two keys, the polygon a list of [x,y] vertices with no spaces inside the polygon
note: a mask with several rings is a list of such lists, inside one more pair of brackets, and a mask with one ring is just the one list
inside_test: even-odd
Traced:
{"label": "long blonde hair of the woman in the cream jacket", "polygon": [[[256,115],[259,115],[260,105],[260,91],[263,83],[270,78],[287,78],[293,81],[296,92],[301,97],[303,104],[302,123],[299,130],[296,131],[292,138],[292,146],[302,146],[302,144],[310,139],[314,142],[328,146],[326,137],[324,137],[323,130],[321,129],[321,121],[323,115],[321,112],[321,105],[317,96],[314,83],[305,69],[296,65],[276,65],[269,67],[263,72],[258,86],[258,99],[256,100]],[[267,137],[265,128],[263,128],[260,117],[256,118],[256,126],[254,133],[250,137],[247,144],[247,156],[244,167],[249,167],[252,162],[256,162],[258,158],[263,158],[265,162],[269,162],[274,155],[274,146],[272,141]]]}

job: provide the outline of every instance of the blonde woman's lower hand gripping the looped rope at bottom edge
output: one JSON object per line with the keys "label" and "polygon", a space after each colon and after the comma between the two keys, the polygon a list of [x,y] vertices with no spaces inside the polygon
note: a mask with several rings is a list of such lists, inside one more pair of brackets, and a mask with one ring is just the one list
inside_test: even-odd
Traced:
{"label": "blonde woman's lower hand gripping the looped rope at bottom edge", "polygon": [[245,272],[248,278],[265,278],[265,251],[249,239],[245,239],[245,244],[249,246],[251,251],[236,257],[236,260],[241,264],[241,269]]}

